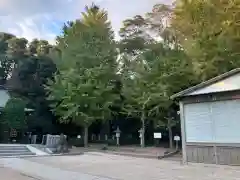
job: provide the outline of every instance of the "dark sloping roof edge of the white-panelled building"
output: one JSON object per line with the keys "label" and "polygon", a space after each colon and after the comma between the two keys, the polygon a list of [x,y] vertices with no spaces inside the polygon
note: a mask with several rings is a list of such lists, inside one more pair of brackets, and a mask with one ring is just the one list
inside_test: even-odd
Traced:
{"label": "dark sloping roof edge of the white-panelled building", "polygon": [[[181,91],[179,93],[176,93],[176,94],[172,95],[170,98],[171,99],[175,99],[175,98],[179,98],[179,97],[183,97],[183,96],[189,96],[189,95],[191,95],[191,93],[193,93],[193,92],[195,92],[197,90],[200,90],[202,88],[210,86],[210,85],[212,85],[212,84],[214,84],[216,82],[219,82],[221,80],[229,78],[229,77],[231,77],[233,75],[236,75],[238,73],[240,73],[240,68],[233,69],[233,70],[228,71],[228,72],[226,72],[224,74],[216,76],[216,77],[214,77],[214,78],[212,78],[210,80],[204,81],[204,82],[202,82],[202,83],[200,83],[200,84],[198,84],[196,86],[190,87],[190,88],[185,89],[185,90],[183,90],[183,91]],[[222,91],[228,91],[228,90],[222,90]],[[210,93],[214,93],[214,92],[210,92]]]}

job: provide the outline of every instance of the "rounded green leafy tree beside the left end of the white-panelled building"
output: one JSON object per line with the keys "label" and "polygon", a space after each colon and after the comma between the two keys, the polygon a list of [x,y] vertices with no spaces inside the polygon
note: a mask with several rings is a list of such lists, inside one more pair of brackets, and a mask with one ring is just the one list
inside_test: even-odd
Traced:
{"label": "rounded green leafy tree beside the left end of the white-panelled building", "polygon": [[158,43],[128,63],[123,71],[126,112],[141,119],[143,134],[146,120],[165,124],[171,133],[173,123],[165,122],[172,118],[169,97],[194,83],[191,61],[183,51]]}

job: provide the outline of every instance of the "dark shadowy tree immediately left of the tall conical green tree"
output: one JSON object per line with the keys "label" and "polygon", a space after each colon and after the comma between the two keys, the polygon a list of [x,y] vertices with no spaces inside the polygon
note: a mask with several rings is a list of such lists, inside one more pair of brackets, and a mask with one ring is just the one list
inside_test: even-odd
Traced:
{"label": "dark shadowy tree immediately left of the tall conical green tree", "polygon": [[7,87],[13,95],[26,100],[27,105],[34,109],[30,117],[31,123],[28,124],[29,130],[38,128],[39,131],[44,129],[49,132],[54,116],[46,100],[44,84],[47,79],[52,78],[56,65],[50,55],[50,45],[47,41],[34,39],[29,44],[26,43],[22,38],[8,41],[7,58],[12,64]]}

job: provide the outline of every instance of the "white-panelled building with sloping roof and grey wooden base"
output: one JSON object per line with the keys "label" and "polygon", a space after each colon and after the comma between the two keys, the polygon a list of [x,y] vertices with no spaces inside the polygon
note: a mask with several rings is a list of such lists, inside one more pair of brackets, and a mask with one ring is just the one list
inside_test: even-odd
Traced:
{"label": "white-panelled building with sloping roof and grey wooden base", "polygon": [[183,163],[240,165],[240,68],[172,98],[180,104]]}

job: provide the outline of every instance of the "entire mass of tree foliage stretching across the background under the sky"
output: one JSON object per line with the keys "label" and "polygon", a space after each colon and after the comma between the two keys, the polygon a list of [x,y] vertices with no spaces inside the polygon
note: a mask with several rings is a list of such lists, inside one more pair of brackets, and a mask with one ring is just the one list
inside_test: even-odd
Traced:
{"label": "entire mass of tree foliage stretching across the background under the sky", "polygon": [[113,112],[138,118],[143,129],[153,120],[170,130],[172,94],[240,66],[239,18],[239,0],[175,0],[124,20],[116,42],[107,12],[92,4],[64,24],[56,46],[1,33],[1,85],[27,99],[35,119],[53,117],[50,103],[86,137]]}

